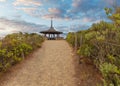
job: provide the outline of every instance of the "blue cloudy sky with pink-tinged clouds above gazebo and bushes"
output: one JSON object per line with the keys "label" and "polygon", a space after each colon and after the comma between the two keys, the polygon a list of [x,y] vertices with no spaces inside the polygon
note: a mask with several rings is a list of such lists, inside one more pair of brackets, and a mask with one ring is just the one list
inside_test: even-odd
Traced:
{"label": "blue cloudy sky with pink-tinged clouds above gazebo and bushes", "polygon": [[0,36],[15,32],[40,32],[50,27],[67,33],[109,21],[104,8],[120,0],[0,0]]}

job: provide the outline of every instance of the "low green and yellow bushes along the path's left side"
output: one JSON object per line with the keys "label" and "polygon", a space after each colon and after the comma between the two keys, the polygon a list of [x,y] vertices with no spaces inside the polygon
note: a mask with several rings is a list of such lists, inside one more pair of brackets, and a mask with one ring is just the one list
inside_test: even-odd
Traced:
{"label": "low green and yellow bushes along the path's left side", "polygon": [[32,33],[9,34],[0,40],[0,72],[20,62],[33,50],[41,47],[43,37]]}

